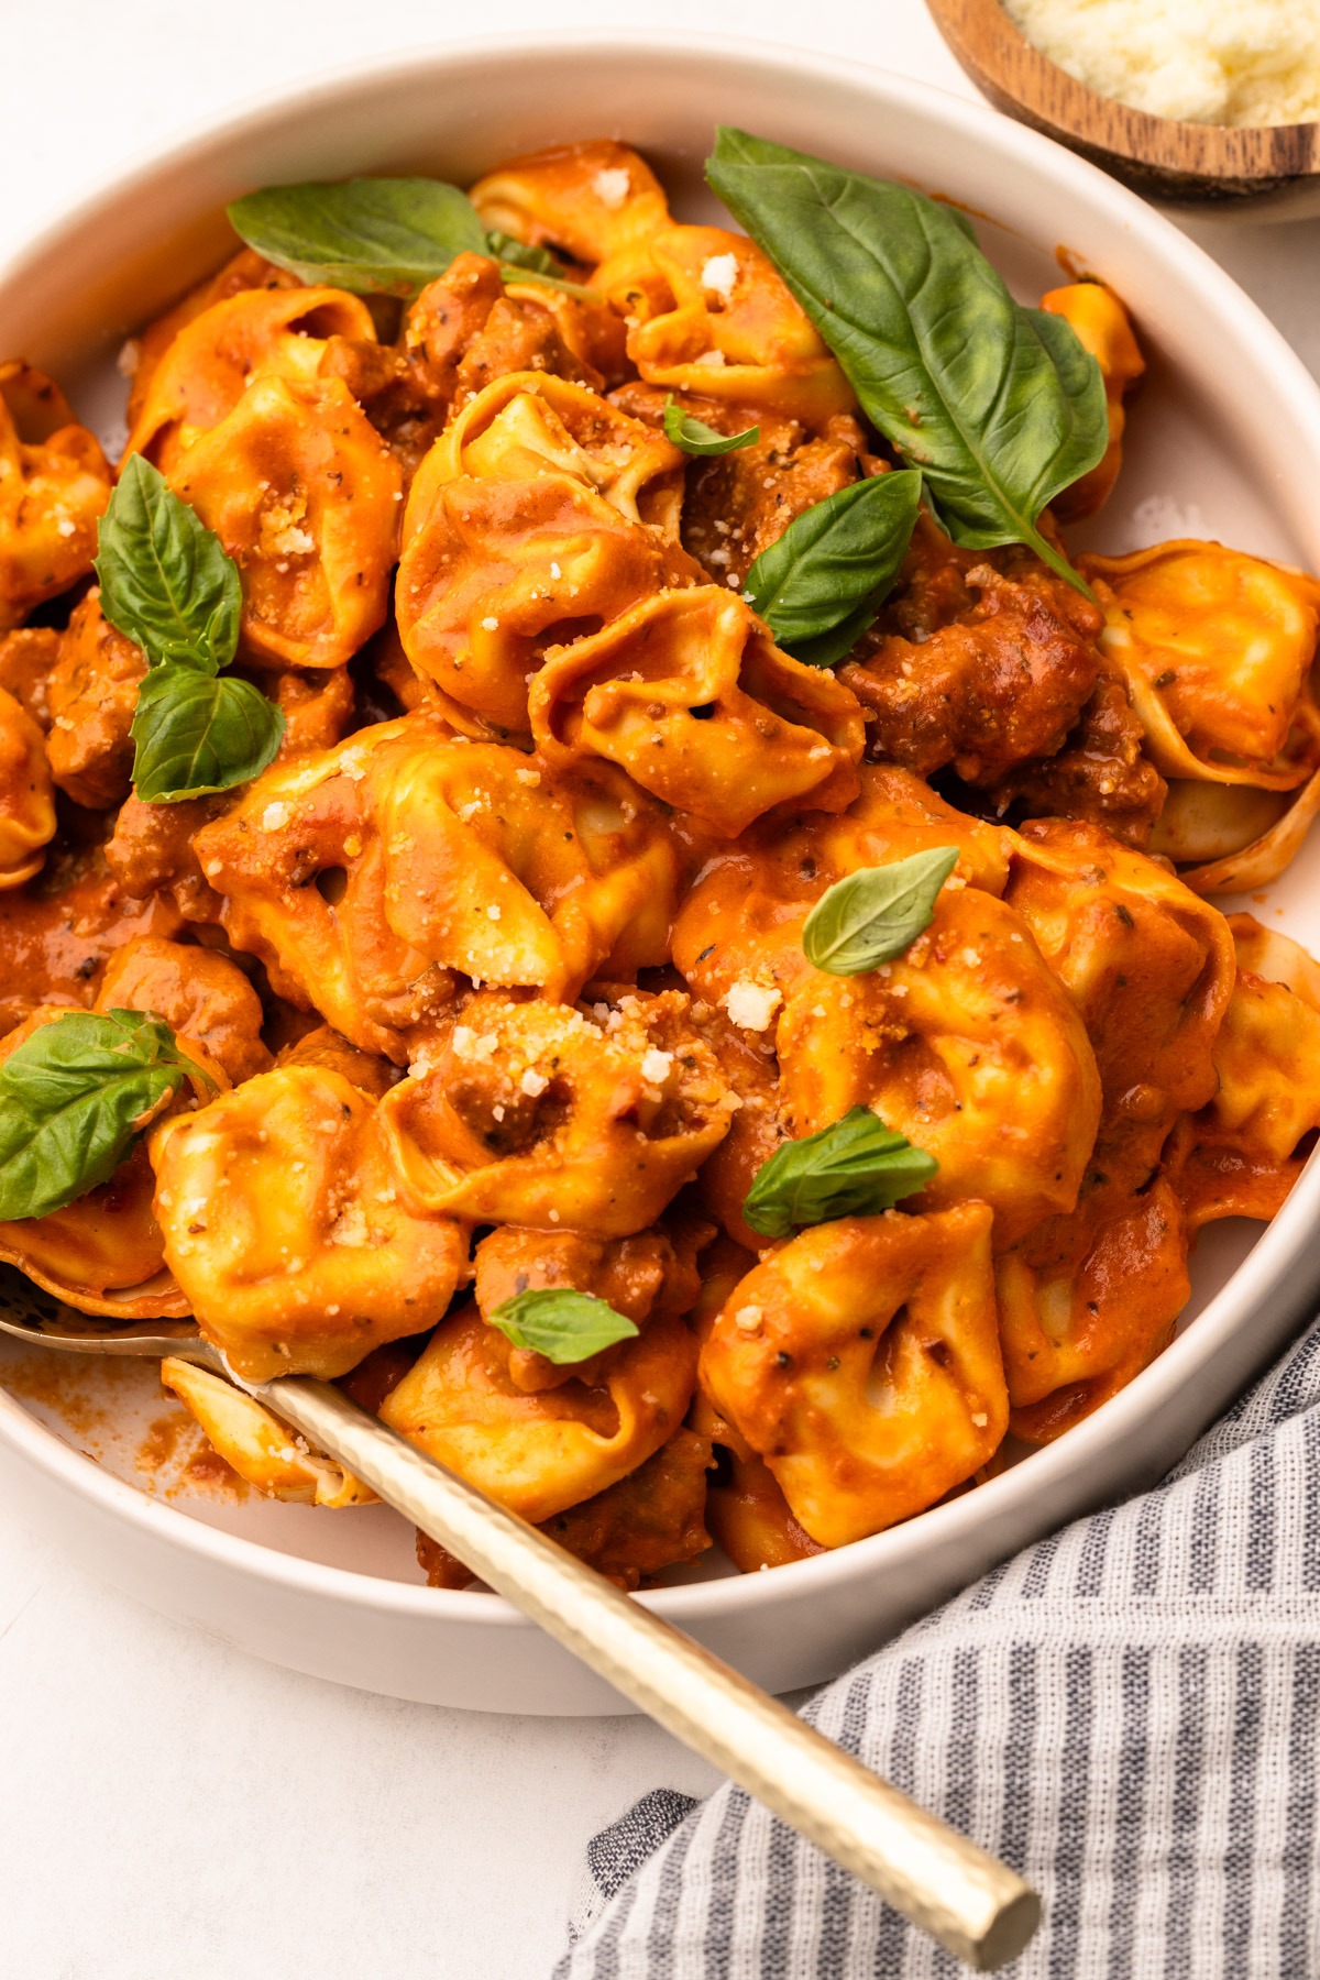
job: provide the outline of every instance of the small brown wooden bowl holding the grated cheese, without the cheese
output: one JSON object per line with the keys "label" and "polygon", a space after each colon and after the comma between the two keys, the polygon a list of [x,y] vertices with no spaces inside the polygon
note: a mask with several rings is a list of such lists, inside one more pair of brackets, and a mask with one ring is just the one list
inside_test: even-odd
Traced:
{"label": "small brown wooden bowl holding the grated cheese, without the cheese", "polygon": [[1090,158],[1150,200],[1253,220],[1320,214],[1320,123],[1229,129],[1148,117],[1079,83],[999,0],[926,0],[990,101]]}

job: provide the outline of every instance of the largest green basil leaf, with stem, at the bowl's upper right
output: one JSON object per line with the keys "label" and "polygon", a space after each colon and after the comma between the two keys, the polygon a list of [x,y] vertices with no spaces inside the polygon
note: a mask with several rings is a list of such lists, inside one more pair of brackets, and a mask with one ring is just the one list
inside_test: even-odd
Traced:
{"label": "largest green basil leaf, with stem, at the bowl's upper right", "polygon": [[910,186],[720,129],[707,178],[839,358],[867,418],[920,467],[954,543],[1025,543],[1108,446],[1100,366],[1063,317],[1021,309],[962,214]]}

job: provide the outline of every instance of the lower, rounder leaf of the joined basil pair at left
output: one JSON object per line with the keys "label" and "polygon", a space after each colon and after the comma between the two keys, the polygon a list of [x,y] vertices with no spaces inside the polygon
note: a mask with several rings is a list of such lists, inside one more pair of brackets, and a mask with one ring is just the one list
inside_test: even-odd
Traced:
{"label": "lower, rounder leaf of the joined basil pair at left", "polygon": [[232,790],[261,776],[283,733],[283,713],[251,681],[152,667],[133,717],[133,786],[146,804]]}

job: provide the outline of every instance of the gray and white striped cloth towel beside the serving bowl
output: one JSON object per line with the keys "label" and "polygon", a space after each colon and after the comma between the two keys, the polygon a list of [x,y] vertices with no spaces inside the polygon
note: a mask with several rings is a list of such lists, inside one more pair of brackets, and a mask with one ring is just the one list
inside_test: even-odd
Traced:
{"label": "gray and white striped cloth towel beside the serving bowl", "polygon": [[[1320,1321],[1156,1489],[1081,1519],[807,1707],[1045,1897],[1015,1980],[1320,1976]],[[588,1851],[554,1980],[964,1972],[720,1788]]]}

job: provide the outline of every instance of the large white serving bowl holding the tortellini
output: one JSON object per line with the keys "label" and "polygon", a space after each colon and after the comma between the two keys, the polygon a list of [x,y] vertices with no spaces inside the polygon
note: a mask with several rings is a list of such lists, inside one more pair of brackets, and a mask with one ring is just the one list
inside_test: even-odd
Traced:
{"label": "large white serving bowl holding the tortellini", "polygon": [[[103,432],[121,339],[226,253],[226,200],[277,180],[435,172],[461,184],[574,137],[637,145],[705,218],[712,127],[734,123],[970,208],[1023,297],[1069,267],[1130,303],[1152,358],[1104,548],[1217,535],[1320,566],[1320,390],[1278,333],[1170,222],[1021,125],[863,63],[681,36],[562,36],[420,51],[283,93],[174,145],[0,269],[0,356],[26,354]],[[1320,847],[1271,895],[1320,946]],[[1179,1338],[1059,1443],[891,1533],[768,1574],[643,1596],[774,1691],[831,1677],[995,1560],[1168,1469],[1320,1293],[1320,1168],[1282,1216],[1217,1226]],[[0,1368],[0,1376],[4,1370]],[[154,1380],[142,1370],[142,1382]],[[117,1392],[125,1398],[127,1390]],[[141,1388],[141,1396],[148,1390]],[[156,1410],[160,1402],[156,1402]],[[113,1453],[107,1453],[111,1457]],[[6,1505],[95,1572],[255,1655],[394,1697],[519,1713],[621,1701],[495,1596],[420,1586],[386,1509],[166,1503],[121,1455],[89,1463],[59,1412],[0,1392]],[[186,1507],[186,1511],[184,1511]]]}

